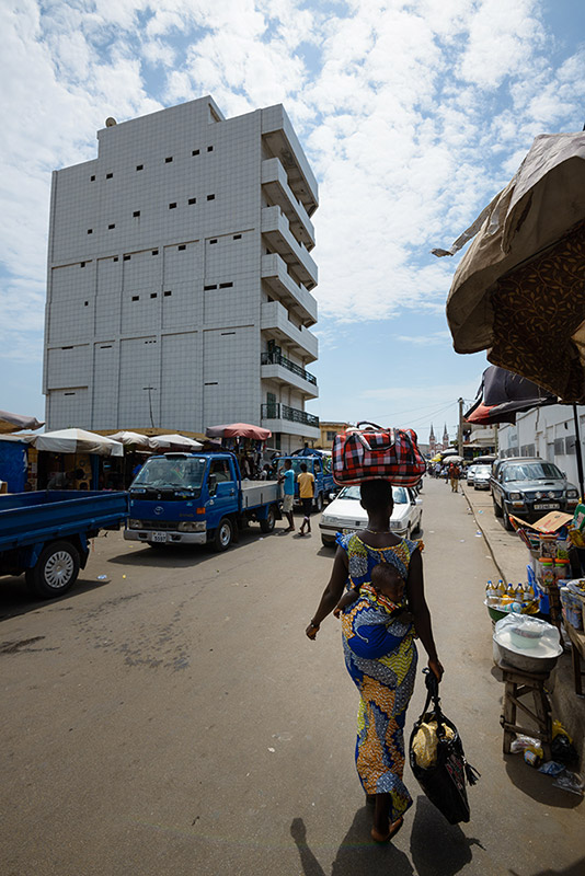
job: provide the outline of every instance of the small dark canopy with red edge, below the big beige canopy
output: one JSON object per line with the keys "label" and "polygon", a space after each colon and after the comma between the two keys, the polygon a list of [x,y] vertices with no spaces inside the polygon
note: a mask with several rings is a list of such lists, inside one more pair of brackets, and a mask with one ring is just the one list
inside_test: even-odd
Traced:
{"label": "small dark canopy with red edge, below the big beige canopy", "polygon": [[482,426],[516,423],[516,414],[557,404],[557,395],[537,387],[531,380],[492,365],[483,372],[478,399],[463,417],[468,423]]}

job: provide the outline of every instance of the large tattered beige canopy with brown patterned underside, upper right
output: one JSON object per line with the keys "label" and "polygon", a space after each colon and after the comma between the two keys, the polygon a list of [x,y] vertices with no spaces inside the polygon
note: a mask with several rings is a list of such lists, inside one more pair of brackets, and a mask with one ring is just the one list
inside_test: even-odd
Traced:
{"label": "large tattered beige canopy with brown patterned underside, upper right", "polygon": [[457,353],[585,403],[585,132],[537,137],[518,172],[450,250],[475,238],[447,319]]}

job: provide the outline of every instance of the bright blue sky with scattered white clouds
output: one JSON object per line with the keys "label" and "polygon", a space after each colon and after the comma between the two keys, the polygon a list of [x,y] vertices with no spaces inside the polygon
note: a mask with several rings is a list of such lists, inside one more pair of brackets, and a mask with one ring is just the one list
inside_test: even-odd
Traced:
{"label": "bright blue sky with scattered white clouds", "polygon": [[[580,0],[0,0],[0,408],[43,418],[50,174],[118,122],[211,94],[283,103],[320,186],[324,420],[451,438],[483,353],[452,350],[436,258],[538,134],[585,122]],[[173,424],[167,424],[171,427]]]}

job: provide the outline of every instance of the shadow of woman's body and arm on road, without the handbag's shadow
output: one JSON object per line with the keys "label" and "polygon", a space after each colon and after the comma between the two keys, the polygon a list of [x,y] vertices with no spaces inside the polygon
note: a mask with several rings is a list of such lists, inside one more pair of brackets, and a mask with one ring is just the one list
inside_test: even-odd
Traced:
{"label": "shadow of woman's body and arm on road, without the handbag's shadow", "polygon": [[[364,806],[342,840],[331,866],[331,876],[414,876],[406,855],[392,843],[378,845],[369,835],[371,811]],[[307,843],[302,818],[292,819],[290,835],[295,840],[303,876],[328,876]]]}

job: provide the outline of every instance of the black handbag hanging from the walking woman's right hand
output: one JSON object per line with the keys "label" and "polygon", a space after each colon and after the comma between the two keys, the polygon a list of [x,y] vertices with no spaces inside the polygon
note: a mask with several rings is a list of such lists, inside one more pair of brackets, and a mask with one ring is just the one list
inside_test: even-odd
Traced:
{"label": "black handbag hanging from the walking woman's right hand", "polygon": [[[440,711],[438,681],[435,673],[429,669],[423,669],[423,672],[425,672],[427,695],[423,713],[415,722],[411,734],[409,751],[411,770],[431,803],[443,812],[450,825],[458,825],[460,821],[467,822],[470,810],[466,782],[474,785],[480,773],[467,762],[457,727]],[[433,700],[433,708],[428,712],[431,700]],[[416,763],[413,741],[421,724],[428,724],[431,721],[437,722],[437,759],[432,766],[425,769]],[[446,737],[446,727],[450,727],[452,730],[451,739]]]}

